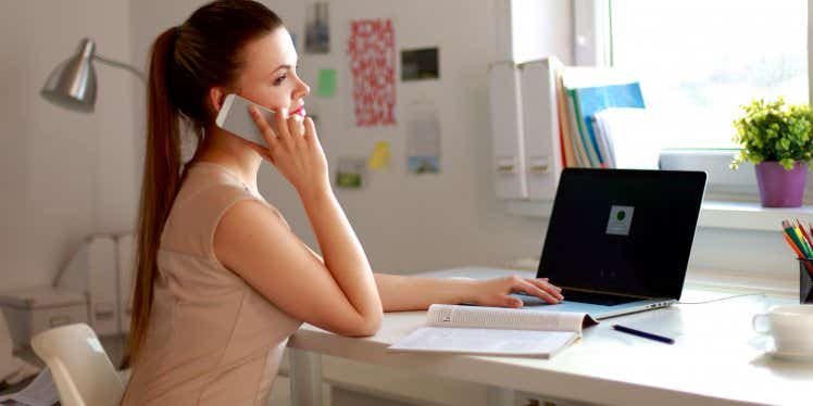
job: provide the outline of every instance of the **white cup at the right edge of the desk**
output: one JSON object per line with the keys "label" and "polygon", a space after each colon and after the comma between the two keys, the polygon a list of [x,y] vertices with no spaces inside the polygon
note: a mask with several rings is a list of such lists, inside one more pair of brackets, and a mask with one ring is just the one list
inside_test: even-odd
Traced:
{"label": "white cup at the right edge of the desk", "polygon": [[754,315],[752,327],[773,337],[777,353],[813,355],[813,305],[772,307]]}

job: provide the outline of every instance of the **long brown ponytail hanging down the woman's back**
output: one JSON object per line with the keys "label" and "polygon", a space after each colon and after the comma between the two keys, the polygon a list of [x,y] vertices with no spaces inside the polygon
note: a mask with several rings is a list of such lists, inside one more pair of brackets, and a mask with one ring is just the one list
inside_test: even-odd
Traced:
{"label": "long brown ponytail hanging down the woman's back", "polygon": [[136,361],[147,335],[158,276],[161,232],[180,186],[180,130],[177,109],[170,97],[177,27],[161,34],[152,45],[148,81],[147,144],[138,216],[138,251],[133,293],[133,315],[124,365]]}

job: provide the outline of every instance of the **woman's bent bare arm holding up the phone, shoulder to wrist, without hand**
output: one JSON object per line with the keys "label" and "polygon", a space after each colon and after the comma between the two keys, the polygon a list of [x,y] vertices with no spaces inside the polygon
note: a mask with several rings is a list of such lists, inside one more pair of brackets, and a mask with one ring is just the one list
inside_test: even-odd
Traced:
{"label": "woman's bent bare arm holding up the phone, shoulder to wrist, without hand", "polygon": [[361,244],[333,195],[307,207],[325,262],[313,258],[270,207],[252,200],[223,216],[214,234],[217,259],[299,320],[342,335],[374,334],[383,307]]}

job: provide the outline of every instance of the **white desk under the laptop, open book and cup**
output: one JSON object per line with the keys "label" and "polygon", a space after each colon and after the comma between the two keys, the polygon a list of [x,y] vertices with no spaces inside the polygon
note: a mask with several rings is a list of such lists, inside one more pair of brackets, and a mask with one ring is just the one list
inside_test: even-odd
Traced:
{"label": "white desk under the laptop, open book and cup", "polygon": [[[424,274],[485,275],[484,268]],[[681,301],[728,295],[686,289]],[[495,405],[509,404],[514,390],[608,405],[810,405],[813,361],[772,358],[760,350],[764,338],[751,331],[751,316],[776,303],[793,300],[746,296],[608,319],[551,359],[388,353],[389,344],[425,322],[424,312],[386,314],[379,332],[365,339],[305,325],[289,342],[291,394],[296,404],[318,404],[320,354],[326,354],[491,385]],[[661,332],[676,343],[617,332],[611,329],[615,322]]]}

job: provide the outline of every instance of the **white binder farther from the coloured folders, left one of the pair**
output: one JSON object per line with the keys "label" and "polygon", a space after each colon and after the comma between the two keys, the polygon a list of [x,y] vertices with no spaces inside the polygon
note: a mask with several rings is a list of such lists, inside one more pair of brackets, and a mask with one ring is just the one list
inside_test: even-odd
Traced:
{"label": "white binder farther from the coloured folders, left one of the pair", "polygon": [[496,62],[488,76],[496,193],[501,199],[526,199],[520,69],[513,62]]}

